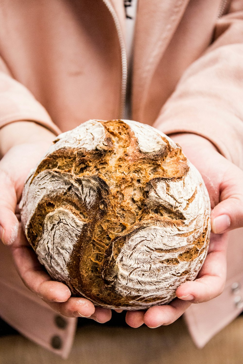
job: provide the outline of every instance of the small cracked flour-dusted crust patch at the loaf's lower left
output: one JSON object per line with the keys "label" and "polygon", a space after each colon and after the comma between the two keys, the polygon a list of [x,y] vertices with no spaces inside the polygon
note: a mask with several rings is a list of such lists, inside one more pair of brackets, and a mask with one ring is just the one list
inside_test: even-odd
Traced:
{"label": "small cracked flour-dusted crust patch at the loaf's lower left", "polygon": [[85,222],[62,207],[46,215],[36,253],[54,279],[68,280],[67,265],[84,225]]}

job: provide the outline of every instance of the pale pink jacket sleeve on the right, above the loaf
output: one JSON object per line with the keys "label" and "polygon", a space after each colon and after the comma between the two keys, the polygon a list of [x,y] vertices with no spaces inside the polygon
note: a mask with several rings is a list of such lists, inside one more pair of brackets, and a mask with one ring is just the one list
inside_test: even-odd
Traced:
{"label": "pale pink jacket sleeve on the right, above the loaf", "polygon": [[154,127],[199,134],[243,168],[243,1],[218,19],[211,46],[184,72]]}

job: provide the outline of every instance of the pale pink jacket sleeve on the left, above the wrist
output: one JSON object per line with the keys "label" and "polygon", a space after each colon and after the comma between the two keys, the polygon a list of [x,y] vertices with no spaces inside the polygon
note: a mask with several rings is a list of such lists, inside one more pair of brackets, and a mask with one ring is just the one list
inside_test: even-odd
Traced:
{"label": "pale pink jacket sleeve on the left, above the wrist", "polygon": [[12,78],[0,58],[0,128],[19,120],[36,122],[56,135],[61,132],[31,92]]}

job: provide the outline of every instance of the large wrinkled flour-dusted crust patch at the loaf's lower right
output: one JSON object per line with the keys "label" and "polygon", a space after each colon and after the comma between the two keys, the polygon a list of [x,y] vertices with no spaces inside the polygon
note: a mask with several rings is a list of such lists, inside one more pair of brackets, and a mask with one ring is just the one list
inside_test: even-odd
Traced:
{"label": "large wrinkled flour-dusted crust patch at the loaf's lower right", "polygon": [[[187,237],[180,236],[180,233],[176,226],[173,229],[167,226],[149,226],[141,228],[126,240],[113,268],[115,291],[121,296],[139,294],[151,300],[158,295],[163,296],[162,300],[156,300],[157,304],[171,301],[175,297],[176,288],[186,280],[193,280],[201,267],[199,250],[190,245]],[[173,241],[174,246],[186,247],[185,252],[180,253],[179,250],[166,253],[166,249],[173,246]],[[190,246],[193,252],[197,250],[193,257],[189,254]],[[166,260],[173,260],[174,264],[168,265]],[[175,264],[175,261],[178,263]],[[188,274],[181,274],[185,271]],[[135,303],[136,300],[130,302]]]}

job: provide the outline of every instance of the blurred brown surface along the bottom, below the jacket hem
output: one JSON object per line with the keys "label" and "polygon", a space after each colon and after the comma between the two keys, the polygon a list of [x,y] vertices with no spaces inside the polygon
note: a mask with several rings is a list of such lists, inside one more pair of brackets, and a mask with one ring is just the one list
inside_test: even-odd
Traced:
{"label": "blurred brown surface along the bottom, below the jacket hem", "polygon": [[149,329],[79,327],[71,354],[60,359],[21,335],[0,337],[0,364],[243,364],[243,316],[203,349],[192,343],[183,319]]}

